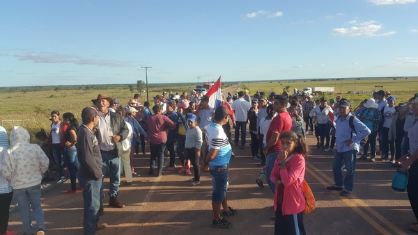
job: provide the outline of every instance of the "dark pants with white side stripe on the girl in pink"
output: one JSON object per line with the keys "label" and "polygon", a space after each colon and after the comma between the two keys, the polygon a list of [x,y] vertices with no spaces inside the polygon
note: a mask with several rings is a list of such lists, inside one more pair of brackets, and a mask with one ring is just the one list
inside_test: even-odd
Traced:
{"label": "dark pants with white side stripe on the girl in pink", "polygon": [[[296,227],[299,230],[298,232],[296,231]],[[293,215],[283,216],[283,213],[281,211],[281,204],[277,204],[276,222],[274,222],[274,235],[296,234],[307,234],[304,230],[302,212]]]}

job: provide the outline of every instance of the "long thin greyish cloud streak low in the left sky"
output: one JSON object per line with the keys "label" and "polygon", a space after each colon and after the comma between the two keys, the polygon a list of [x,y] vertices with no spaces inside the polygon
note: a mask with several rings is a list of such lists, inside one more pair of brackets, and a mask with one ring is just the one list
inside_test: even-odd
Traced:
{"label": "long thin greyish cloud streak low in the left sky", "polygon": [[134,63],[120,60],[104,60],[98,58],[82,58],[72,55],[55,53],[27,53],[15,55],[19,60],[31,60],[35,63],[71,63],[76,65],[97,65],[104,67],[134,67]]}

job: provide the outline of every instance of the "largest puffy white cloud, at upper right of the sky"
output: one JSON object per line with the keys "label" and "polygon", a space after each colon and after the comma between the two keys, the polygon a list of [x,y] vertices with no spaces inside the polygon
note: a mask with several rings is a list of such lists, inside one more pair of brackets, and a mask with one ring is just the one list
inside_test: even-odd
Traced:
{"label": "largest puffy white cloud, at upper right of the sky", "polygon": [[366,36],[366,37],[376,37],[376,36],[389,36],[394,35],[396,31],[389,31],[386,33],[379,33],[380,30],[383,28],[382,24],[375,24],[376,22],[371,20],[369,22],[361,22],[361,23],[354,23],[355,26],[350,28],[336,28],[332,29],[332,33],[334,35],[340,36],[350,36],[350,37],[358,37],[358,36]]}

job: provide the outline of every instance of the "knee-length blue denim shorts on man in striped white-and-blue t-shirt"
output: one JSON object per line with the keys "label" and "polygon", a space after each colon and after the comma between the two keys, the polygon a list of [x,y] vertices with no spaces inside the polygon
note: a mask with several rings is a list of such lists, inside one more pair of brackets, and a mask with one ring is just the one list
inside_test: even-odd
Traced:
{"label": "knee-length blue denim shorts on man in striped white-and-blue t-shirt", "polygon": [[212,202],[222,204],[228,190],[229,164],[209,165],[212,176]]}

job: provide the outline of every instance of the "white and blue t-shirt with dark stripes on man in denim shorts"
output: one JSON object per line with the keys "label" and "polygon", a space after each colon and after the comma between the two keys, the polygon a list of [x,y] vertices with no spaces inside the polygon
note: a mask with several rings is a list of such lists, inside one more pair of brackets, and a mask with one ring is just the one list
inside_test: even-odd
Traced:
{"label": "white and blue t-shirt with dark stripes on man in denim shorts", "polygon": [[208,140],[209,152],[211,148],[218,149],[215,159],[210,161],[209,165],[229,164],[232,148],[222,126],[215,122],[210,122],[206,128],[206,140]]}

